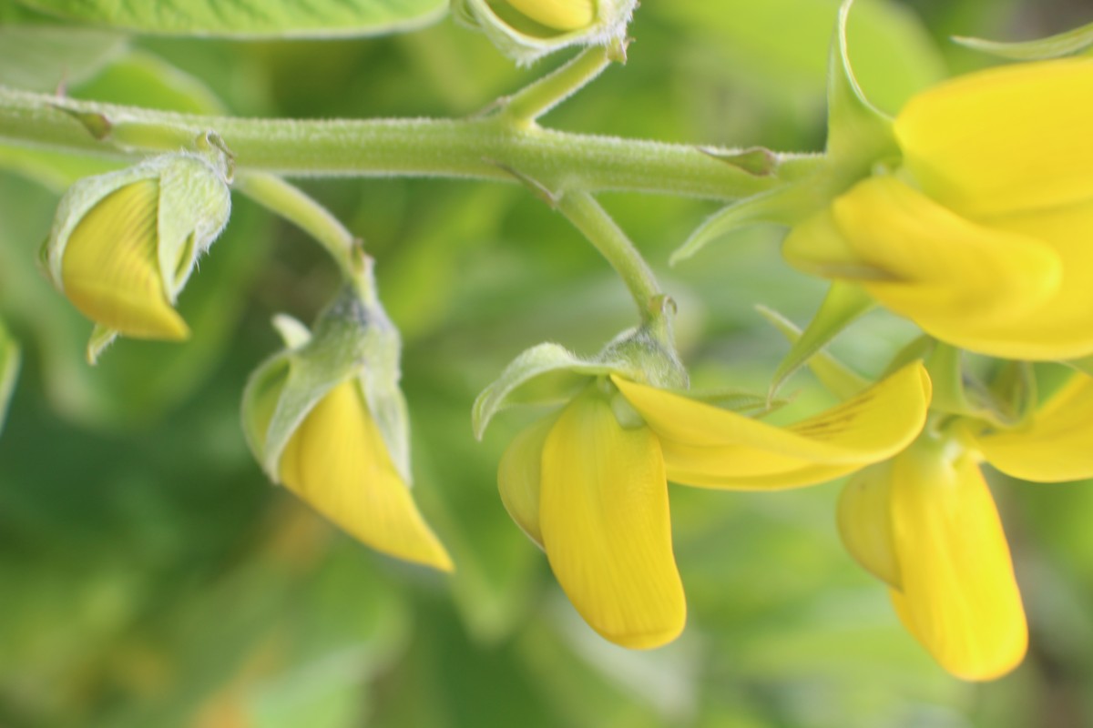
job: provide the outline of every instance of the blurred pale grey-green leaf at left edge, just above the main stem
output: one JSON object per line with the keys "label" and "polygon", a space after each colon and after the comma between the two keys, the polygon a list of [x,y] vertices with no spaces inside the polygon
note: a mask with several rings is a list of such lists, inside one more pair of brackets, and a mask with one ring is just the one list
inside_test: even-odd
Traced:
{"label": "blurred pale grey-green leaf at left edge, just above the main stem", "polygon": [[109,31],[0,25],[0,85],[52,92],[97,73],[126,45]]}

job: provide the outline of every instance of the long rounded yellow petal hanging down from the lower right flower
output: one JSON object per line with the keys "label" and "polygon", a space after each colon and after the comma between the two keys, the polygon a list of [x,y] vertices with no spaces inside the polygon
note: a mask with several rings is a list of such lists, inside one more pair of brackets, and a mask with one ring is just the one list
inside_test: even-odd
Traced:
{"label": "long rounded yellow petal hanging down from the lower right flower", "polygon": [[953,675],[1020,664],[1027,628],[995,501],[974,458],[921,442],[892,464],[892,535],[908,630]]}

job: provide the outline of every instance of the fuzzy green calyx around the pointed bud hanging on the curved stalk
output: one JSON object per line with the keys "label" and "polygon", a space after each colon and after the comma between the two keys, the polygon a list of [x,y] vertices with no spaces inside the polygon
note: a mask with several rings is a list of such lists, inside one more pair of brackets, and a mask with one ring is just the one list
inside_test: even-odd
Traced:
{"label": "fuzzy green calyx around the pointed bud hanging on the curved stalk", "polygon": [[391,462],[412,482],[409,417],[398,386],[401,342],[378,301],[346,285],[310,335],[289,317],[274,325],[290,348],[259,366],[243,394],[244,432],[270,478],[280,481],[281,455],[308,413],[354,378]]}

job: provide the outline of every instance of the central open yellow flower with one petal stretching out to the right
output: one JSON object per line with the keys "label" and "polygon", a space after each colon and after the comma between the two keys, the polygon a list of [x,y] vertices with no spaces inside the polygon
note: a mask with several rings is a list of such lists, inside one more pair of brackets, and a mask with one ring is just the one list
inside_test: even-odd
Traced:
{"label": "central open yellow flower with one petal stretching out to the right", "polygon": [[501,496],[592,629],[625,647],[657,647],[686,619],[668,480],[764,490],[830,480],[903,450],[929,396],[916,362],[778,428],[612,374],[514,440]]}

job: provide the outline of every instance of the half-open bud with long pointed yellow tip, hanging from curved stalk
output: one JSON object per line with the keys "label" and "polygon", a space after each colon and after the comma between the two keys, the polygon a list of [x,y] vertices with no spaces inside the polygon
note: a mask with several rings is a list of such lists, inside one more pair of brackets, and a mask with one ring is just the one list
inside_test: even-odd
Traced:
{"label": "half-open bud with long pointed yellow tip, hanging from curved stalk", "polygon": [[363,544],[451,571],[410,492],[399,339],[378,302],[346,293],[314,333],[275,323],[289,348],[255,372],[243,401],[267,474]]}

